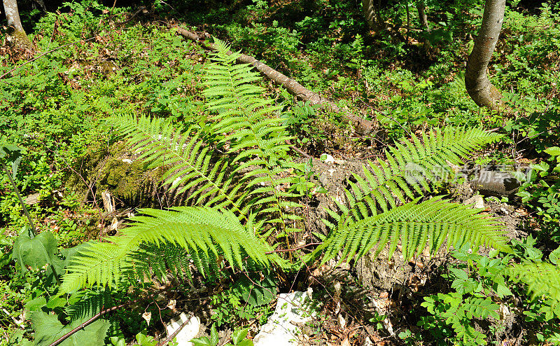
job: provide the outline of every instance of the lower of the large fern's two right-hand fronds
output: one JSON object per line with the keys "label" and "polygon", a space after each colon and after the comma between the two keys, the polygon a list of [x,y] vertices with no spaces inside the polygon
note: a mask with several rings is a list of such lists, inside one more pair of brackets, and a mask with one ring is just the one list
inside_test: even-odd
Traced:
{"label": "lower of the large fern's two right-hand fronds", "polygon": [[[402,245],[402,256],[411,258],[428,247],[435,253],[447,240],[450,245],[473,247],[481,245],[501,251],[510,251],[508,238],[496,219],[478,214],[479,210],[433,198],[417,203],[418,199],[381,214],[368,216],[356,222],[344,223],[332,230],[315,255],[323,253],[322,263],[341,254],[340,261],[350,261],[377,247],[377,254],[390,243],[389,256],[397,244]],[[342,252],[341,252],[342,251]]]}

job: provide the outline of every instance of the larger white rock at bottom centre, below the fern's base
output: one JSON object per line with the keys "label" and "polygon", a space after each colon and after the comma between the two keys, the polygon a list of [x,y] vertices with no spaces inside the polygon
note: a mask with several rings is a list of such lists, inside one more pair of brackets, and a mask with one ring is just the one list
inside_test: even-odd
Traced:
{"label": "larger white rock at bottom centre, below the fern's base", "polygon": [[260,328],[253,339],[255,346],[295,346],[300,329],[294,324],[311,321],[314,312],[308,304],[311,301],[310,290],[281,293],[276,302],[276,310],[269,317],[267,324]]}

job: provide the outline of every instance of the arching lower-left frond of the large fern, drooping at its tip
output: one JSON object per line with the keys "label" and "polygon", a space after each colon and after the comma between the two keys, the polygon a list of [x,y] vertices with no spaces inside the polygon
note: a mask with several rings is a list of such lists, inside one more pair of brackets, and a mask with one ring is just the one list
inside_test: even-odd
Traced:
{"label": "arching lower-left frond of the large fern, drooping at its tip", "polygon": [[[260,268],[281,264],[268,244],[261,242],[232,212],[209,208],[178,207],[172,210],[141,209],[134,224],[123,235],[106,238],[106,242],[87,242],[71,258],[69,272],[61,289],[70,292],[85,286],[113,286],[138,268],[146,268],[146,257],[134,256],[143,245],[173,244],[186,251],[203,275],[220,270],[218,258],[232,267],[244,268],[246,258]],[[252,224],[252,223],[251,223]],[[185,254],[185,256],[186,256]],[[140,259],[139,259],[140,258]],[[141,259],[144,258],[144,259]],[[172,260],[171,256],[168,256]],[[178,258],[176,261],[182,261]],[[179,263],[181,264],[181,263]],[[173,265],[179,268],[181,265]]]}

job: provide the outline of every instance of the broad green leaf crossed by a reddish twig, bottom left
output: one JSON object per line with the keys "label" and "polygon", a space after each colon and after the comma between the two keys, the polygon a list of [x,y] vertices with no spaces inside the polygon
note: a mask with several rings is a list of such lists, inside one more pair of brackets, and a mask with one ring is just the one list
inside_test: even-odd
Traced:
{"label": "broad green leaf crossed by a reddish twig, bottom left", "polygon": [[[47,314],[42,311],[31,313],[31,323],[35,330],[35,345],[50,345],[55,340],[68,333],[73,328],[83,324],[84,320],[74,321],[73,323],[63,326],[55,314]],[[109,321],[98,319],[92,324],[85,326],[80,331],[73,333],[69,338],[64,340],[61,346],[99,346],[105,345],[104,340],[109,330]]]}

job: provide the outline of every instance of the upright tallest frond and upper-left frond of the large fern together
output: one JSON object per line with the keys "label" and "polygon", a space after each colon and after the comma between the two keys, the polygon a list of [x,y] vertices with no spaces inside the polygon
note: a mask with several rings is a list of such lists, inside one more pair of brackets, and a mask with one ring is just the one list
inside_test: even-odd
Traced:
{"label": "upright tallest frond and upper-left frond of the large fern together", "polygon": [[[260,77],[250,65],[235,64],[239,53],[228,55],[230,47],[219,40],[216,46],[204,90],[207,109],[214,112],[206,120],[216,141],[204,141],[200,129],[174,127],[164,119],[117,115],[107,121],[129,137],[140,159],[151,167],[168,167],[165,184],[184,184],[178,193],[190,191],[193,205],[230,209],[241,220],[260,215],[271,226],[281,225],[281,233],[295,230],[287,221],[300,218],[286,210],[300,207],[290,201],[300,195],[279,188],[289,181],[280,173],[301,165],[287,155],[286,141],[293,137],[277,116],[281,106],[251,84]],[[217,147],[226,147],[226,155],[217,155]]]}

